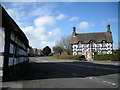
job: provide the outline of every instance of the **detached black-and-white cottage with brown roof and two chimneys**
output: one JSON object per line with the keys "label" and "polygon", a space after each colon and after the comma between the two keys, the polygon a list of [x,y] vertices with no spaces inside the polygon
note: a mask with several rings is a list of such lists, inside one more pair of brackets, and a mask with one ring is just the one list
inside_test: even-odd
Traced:
{"label": "detached black-and-white cottage with brown roof and two chimneys", "polygon": [[107,25],[106,32],[96,33],[76,33],[76,28],[73,27],[71,45],[73,55],[84,55],[86,51],[91,51],[92,54],[112,54],[113,39],[110,25]]}

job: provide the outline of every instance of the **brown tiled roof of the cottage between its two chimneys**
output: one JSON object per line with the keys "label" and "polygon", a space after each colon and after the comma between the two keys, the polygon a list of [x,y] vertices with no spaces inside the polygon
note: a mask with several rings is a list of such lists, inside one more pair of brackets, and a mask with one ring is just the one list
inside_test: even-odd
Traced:
{"label": "brown tiled roof of the cottage between its two chimneys", "polygon": [[71,38],[71,44],[78,43],[79,41],[82,43],[88,43],[90,40],[94,40],[95,43],[102,42],[103,40],[106,42],[113,42],[112,33],[98,32],[76,34],[76,36]]}

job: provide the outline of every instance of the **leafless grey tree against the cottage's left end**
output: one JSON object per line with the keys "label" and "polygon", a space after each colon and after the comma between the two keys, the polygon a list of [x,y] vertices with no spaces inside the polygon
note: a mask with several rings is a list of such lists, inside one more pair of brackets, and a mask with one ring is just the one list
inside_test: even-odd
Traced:
{"label": "leafless grey tree against the cottage's left end", "polygon": [[56,42],[56,46],[59,46],[62,48],[62,50],[71,53],[72,49],[71,49],[70,40],[71,40],[71,35],[63,36],[60,41]]}

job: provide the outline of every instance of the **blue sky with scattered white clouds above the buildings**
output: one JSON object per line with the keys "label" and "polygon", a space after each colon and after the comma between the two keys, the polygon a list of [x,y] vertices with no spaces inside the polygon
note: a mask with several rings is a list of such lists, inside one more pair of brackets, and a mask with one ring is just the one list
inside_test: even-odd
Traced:
{"label": "blue sky with scattered white clouds above the buildings", "polygon": [[118,48],[117,2],[2,2],[33,48],[51,48],[61,37],[106,32],[111,25],[113,48]]}

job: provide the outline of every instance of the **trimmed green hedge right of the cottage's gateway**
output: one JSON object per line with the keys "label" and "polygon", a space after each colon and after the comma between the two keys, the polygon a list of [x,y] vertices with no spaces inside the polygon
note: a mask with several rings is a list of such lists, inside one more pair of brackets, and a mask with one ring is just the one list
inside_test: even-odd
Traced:
{"label": "trimmed green hedge right of the cottage's gateway", "polygon": [[96,54],[94,60],[111,60],[119,61],[118,54]]}

